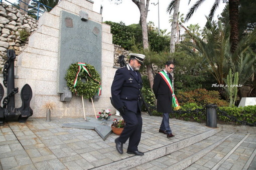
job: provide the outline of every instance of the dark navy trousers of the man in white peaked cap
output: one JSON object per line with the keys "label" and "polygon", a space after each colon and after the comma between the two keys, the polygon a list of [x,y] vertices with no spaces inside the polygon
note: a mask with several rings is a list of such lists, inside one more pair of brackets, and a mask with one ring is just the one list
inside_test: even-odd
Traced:
{"label": "dark navy trousers of the man in white peaked cap", "polygon": [[124,126],[122,133],[118,137],[121,143],[125,143],[129,138],[129,144],[127,151],[138,150],[138,145],[141,141],[142,135],[142,115],[141,112],[135,113],[133,111],[124,109],[124,114],[121,114],[126,125]]}

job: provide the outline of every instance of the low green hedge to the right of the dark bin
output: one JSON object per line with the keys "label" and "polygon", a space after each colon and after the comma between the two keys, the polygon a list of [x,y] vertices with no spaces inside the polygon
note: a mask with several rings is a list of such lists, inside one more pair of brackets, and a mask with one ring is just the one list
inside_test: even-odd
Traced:
{"label": "low green hedge to the right of the dark bin", "polygon": [[[232,116],[239,121],[246,121],[248,123],[256,122],[256,105],[248,105],[244,107],[219,107],[221,111],[226,112],[228,116]],[[218,119],[226,122],[233,122],[240,124],[238,121],[234,122],[234,120],[229,117],[223,115],[220,111],[217,111]]]}

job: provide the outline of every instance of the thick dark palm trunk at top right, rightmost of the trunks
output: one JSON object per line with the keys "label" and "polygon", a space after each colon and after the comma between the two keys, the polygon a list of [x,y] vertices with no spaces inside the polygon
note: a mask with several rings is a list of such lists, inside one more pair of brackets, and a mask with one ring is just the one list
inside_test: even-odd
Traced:
{"label": "thick dark palm trunk at top right, rightmost of the trunks", "polygon": [[238,12],[239,0],[229,0],[229,23],[230,23],[230,41],[231,52],[233,53],[238,45]]}

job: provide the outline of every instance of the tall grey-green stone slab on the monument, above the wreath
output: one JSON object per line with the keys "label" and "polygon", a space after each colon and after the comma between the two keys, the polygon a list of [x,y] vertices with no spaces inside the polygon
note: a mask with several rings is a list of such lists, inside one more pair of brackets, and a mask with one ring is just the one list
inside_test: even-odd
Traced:
{"label": "tall grey-green stone slab on the monument, above the wreath", "polygon": [[100,23],[85,21],[78,15],[61,11],[58,93],[63,93],[67,87],[65,75],[72,63],[85,62],[93,65],[101,75],[101,33]]}

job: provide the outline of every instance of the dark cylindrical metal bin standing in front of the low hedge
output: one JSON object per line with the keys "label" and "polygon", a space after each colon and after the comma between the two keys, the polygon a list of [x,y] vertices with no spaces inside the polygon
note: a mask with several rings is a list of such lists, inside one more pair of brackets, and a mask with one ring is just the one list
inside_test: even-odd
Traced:
{"label": "dark cylindrical metal bin standing in front of the low hedge", "polygon": [[217,127],[217,104],[206,105],[206,125],[209,127]]}

